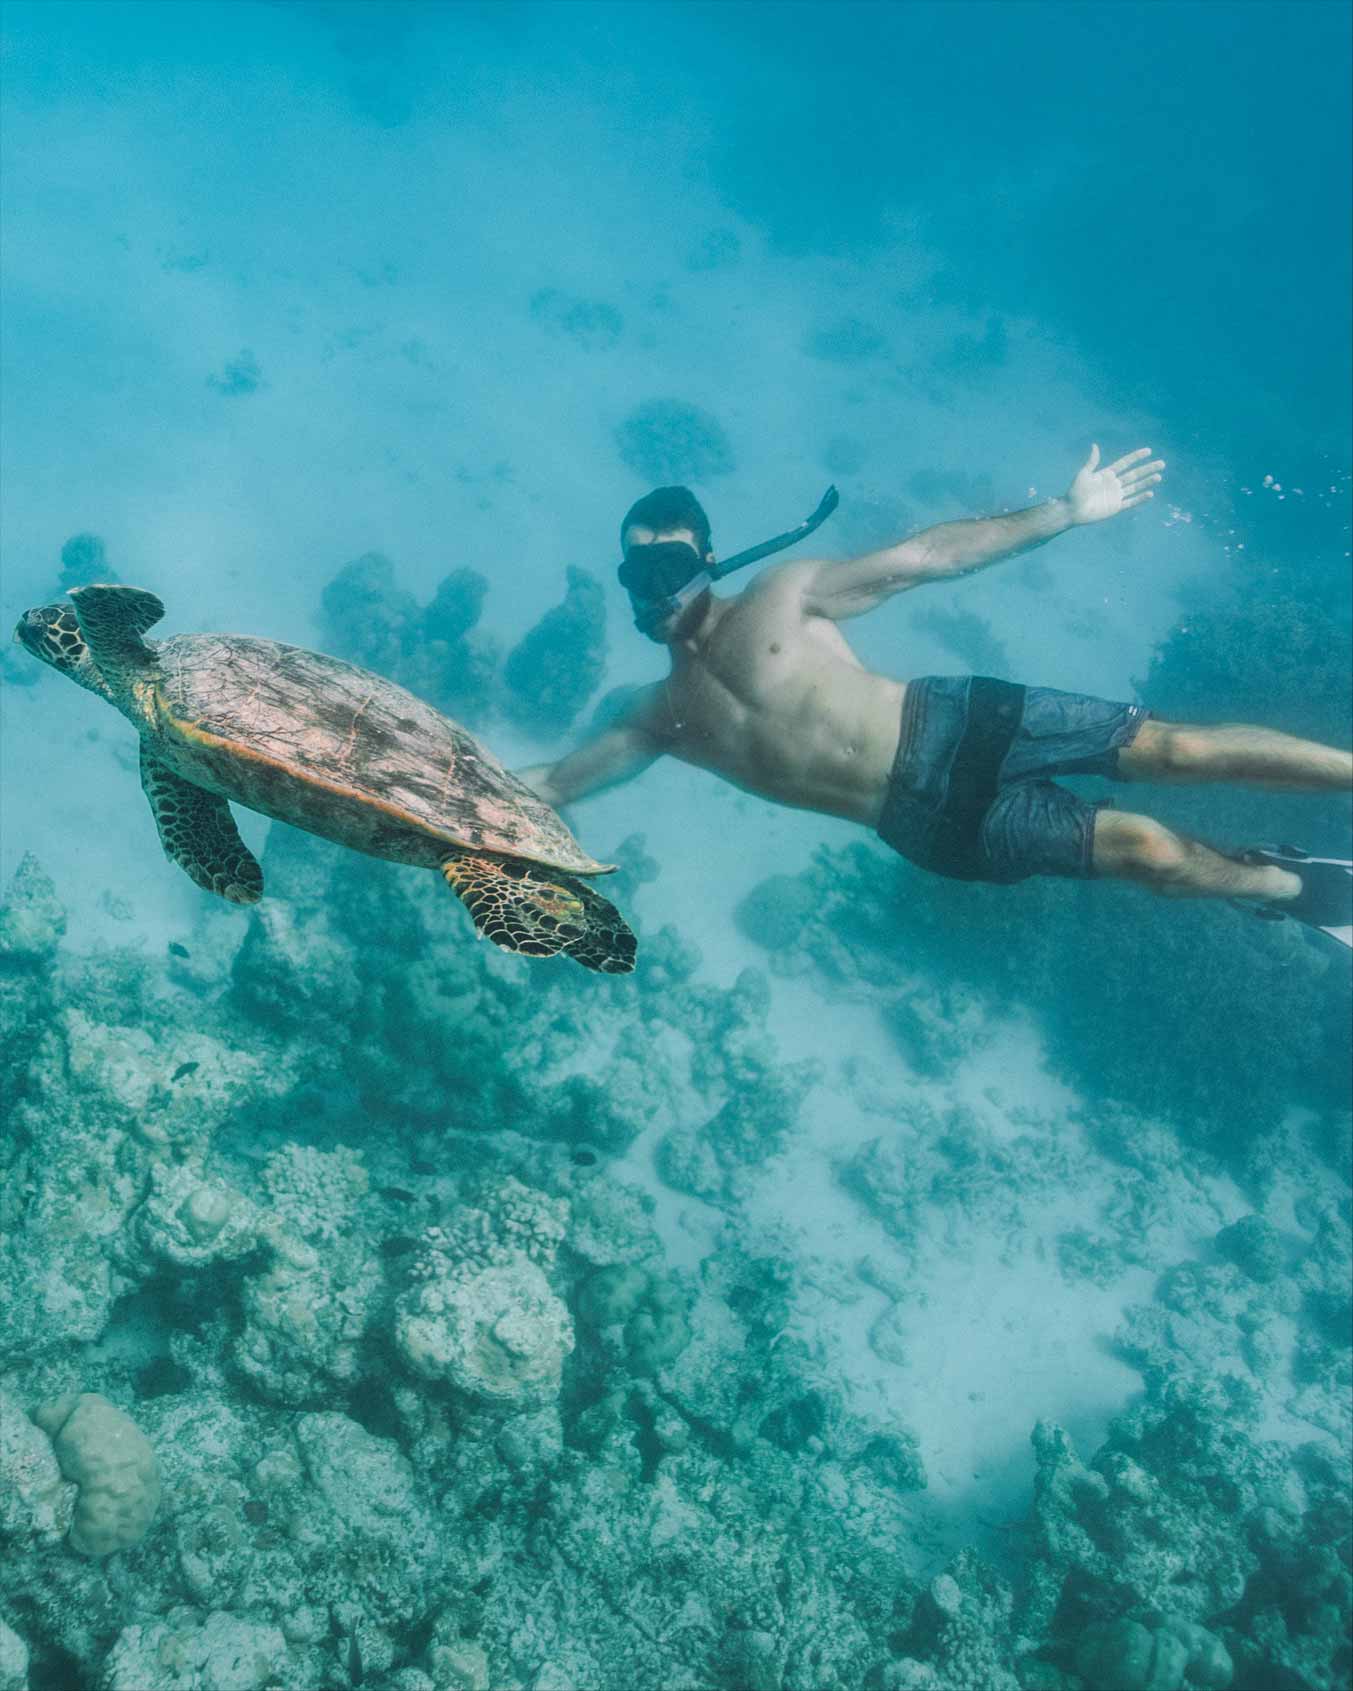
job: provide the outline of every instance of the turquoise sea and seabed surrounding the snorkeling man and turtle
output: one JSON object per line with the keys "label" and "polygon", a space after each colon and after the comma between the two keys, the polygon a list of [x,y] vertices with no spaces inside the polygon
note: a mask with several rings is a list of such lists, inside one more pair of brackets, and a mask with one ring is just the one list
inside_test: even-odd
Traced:
{"label": "turquoise sea and seabed surrounding the snorkeling man and turtle", "polygon": [[[1150,445],[861,659],[1348,744],[1348,7],[0,30],[7,626],[122,580],[516,768],[661,673],[648,487],[846,558]],[[232,908],[0,680],[0,1691],[1348,1683],[1345,954],[671,761],[568,813],[633,976],[249,812]]]}

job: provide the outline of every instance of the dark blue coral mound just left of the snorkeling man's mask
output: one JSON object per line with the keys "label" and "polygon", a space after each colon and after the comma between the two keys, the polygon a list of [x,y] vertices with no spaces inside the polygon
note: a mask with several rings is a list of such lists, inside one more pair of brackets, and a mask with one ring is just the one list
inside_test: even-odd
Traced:
{"label": "dark blue coral mound just left of the snorkeling man's mask", "polygon": [[507,653],[507,714],[546,739],[563,734],[605,675],[605,595],[595,575],[568,568],[563,604]]}

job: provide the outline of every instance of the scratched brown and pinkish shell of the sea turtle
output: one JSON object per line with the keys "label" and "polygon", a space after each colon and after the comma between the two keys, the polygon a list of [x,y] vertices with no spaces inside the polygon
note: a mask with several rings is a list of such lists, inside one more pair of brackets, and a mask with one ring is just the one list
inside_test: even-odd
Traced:
{"label": "scratched brown and pinkish shell of the sea turtle", "polygon": [[458,722],[342,658],[179,636],[156,646],[145,703],[152,741],[188,780],[359,851],[423,862],[431,840],[573,874],[614,867]]}

